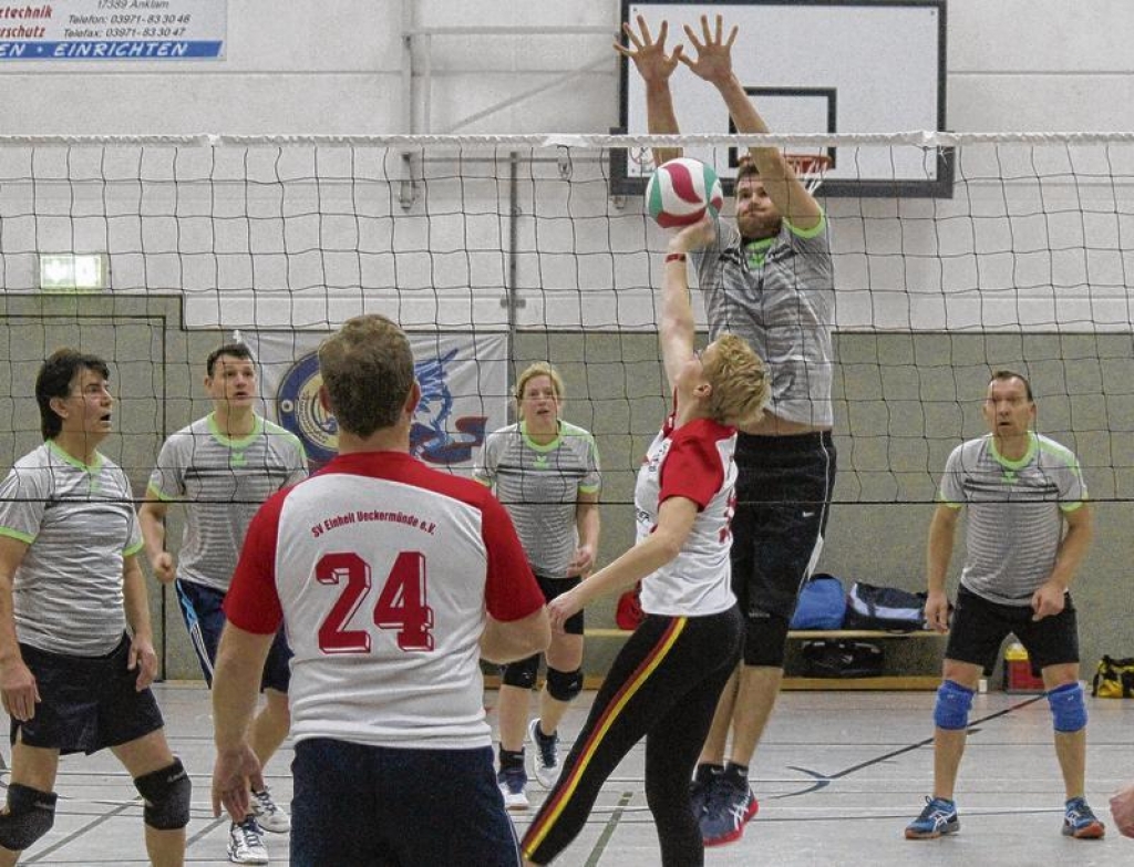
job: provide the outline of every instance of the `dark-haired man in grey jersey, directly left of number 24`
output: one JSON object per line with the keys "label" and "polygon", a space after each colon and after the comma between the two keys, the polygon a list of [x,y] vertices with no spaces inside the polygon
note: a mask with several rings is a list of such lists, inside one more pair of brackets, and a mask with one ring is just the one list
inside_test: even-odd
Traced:
{"label": "dark-haired man in grey jersey, directly left of number 24", "polygon": [[[212,683],[217,645],[225,626],[221,607],[248,521],[281,487],[307,477],[299,440],[255,411],[259,392],[251,349],[225,343],[205,360],[205,392],[213,409],[172,434],[150,476],[139,518],[154,576],[174,583],[181,617],[205,682]],[[166,550],[166,513],[185,507],[178,559]],[[176,580],[175,580],[176,578]],[[291,652],[280,631],[264,664],[264,706],[252,723],[252,742],[262,764],[287,737],[287,690]],[[290,827],[287,813],[268,789],[253,792],[253,811],[229,828],[228,857],[235,864],[268,864],[262,831]]]}

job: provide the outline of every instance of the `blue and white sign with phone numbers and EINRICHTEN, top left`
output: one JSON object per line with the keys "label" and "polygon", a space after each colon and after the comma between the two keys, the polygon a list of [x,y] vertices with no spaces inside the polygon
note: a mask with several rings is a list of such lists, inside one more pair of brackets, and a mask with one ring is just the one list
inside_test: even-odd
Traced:
{"label": "blue and white sign with phone numbers and EINRICHTEN, top left", "polygon": [[0,60],[220,60],[228,0],[0,0]]}

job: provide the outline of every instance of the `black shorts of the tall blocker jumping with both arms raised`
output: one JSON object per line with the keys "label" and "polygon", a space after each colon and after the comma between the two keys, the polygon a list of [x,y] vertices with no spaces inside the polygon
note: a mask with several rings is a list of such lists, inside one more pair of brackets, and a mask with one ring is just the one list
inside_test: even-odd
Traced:
{"label": "black shorts of the tall blocker jumping with both arms raised", "polygon": [[733,592],[747,622],[795,611],[823,546],[835,465],[829,431],[737,437]]}

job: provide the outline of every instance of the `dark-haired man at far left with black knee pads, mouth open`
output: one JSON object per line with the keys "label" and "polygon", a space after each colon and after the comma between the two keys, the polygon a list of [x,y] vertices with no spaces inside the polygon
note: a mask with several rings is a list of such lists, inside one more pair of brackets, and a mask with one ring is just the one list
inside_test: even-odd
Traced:
{"label": "dark-haired man at far left with black knee pads, mouth open", "polygon": [[0,865],[54,822],[59,756],[109,748],[144,799],[152,864],[185,860],[188,774],[169,749],[150,685],[158,672],[134,496],[98,451],[112,431],[110,372],[57,350],[35,398],[43,444],[0,484],[0,698],[11,772]]}

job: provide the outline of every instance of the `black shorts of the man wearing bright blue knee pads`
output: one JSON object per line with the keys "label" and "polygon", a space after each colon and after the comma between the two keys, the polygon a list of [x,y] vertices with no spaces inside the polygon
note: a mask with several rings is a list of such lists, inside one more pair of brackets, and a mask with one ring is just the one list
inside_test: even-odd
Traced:
{"label": "black shorts of the man wearing bright blue knee pads", "polygon": [[1031,604],[1000,605],[960,587],[945,656],[991,672],[1000,645],[1012,632],[1024,645],[1035,671],[1078,662],[1078,619],[1070,594],[1064,597],[1060,613],[1033,621],[1034,613]]}

